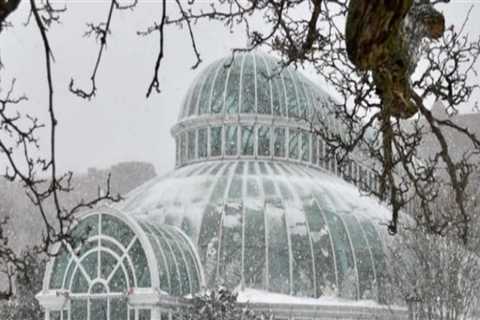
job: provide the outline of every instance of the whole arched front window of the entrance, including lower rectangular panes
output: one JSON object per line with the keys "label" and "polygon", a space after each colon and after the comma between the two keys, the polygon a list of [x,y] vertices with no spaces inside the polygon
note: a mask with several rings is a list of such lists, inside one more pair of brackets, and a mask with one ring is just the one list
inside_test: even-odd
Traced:
{"label": "whole arched front window of the entrance, including lower rectangular panes", "polygon": [[55,258],[50,289],[68,292],[70,320],[128,320],[129,288],[150,287],[147,257],[139,238],[110,214],[84,218]]}

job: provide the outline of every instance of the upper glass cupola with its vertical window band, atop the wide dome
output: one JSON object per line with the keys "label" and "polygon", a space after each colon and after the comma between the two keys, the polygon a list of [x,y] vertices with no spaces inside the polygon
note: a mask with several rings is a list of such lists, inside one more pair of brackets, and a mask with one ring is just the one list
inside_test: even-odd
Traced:
{"label": "upper glass cupola with its vertical window band, atop the wide dome", "polygon": [[338,130],[327,108],[325,92],[268,56],[218,60],[193,82],[172,129],[176,166],[229,158],[322,165],[324,147],[309,119],[320,113]]}

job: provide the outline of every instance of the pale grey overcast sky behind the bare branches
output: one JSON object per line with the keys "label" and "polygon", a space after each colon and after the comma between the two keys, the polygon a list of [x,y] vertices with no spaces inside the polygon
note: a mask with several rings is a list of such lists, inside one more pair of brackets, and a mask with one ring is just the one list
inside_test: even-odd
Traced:
{"label": "pale grey overcast sky behind the bare branches", "polygon": [[[459,24],[475,1],[455,1],[443,6],[447,25]],[[54,1],[55,3],[55,1]],[[64,2],[60,2],[64,3]],[[174,143],[170,128],[175,124],[180,104],[192,79],[208,63],[229,54],[231,48],[245,45],[241,32],[230,33],[221,24],[195,27],[203,63],[195,62],[184,30],[172,28],[167,34],[166,56],[160,71],[162,93],[145,98],[158,51],[158,34],[139,37],[161,14],[160,1],[141,1],[135,11],[113,16],[113,33],[97,78],[98,93],[90,102],[73,96],[67,89],[70,78],[89,88],[88,78],[96,58],[98,44],[84,38],[87,22],[103,21],[108,1],[68,1],[61,24],[49,32],[55,56],[53,76],[55,106],[59,120],[58,165],[62,170],[85,171],[105,168],[120,161],[148,161],[157,173],[174,167]],[[466,31],[480,34],[480,5],[474,7]],[[0,34],[0,57],[5,66],[0,87],[8,87],[15,77],[16,92],[29,101],[22,110],[45,119],[47,90],[43,47],[33,23],[24,26],[28,1],[14,13],[14,27]],[[260,22],[259,22],[260,23]],[[318,77],[307,72],[318,82]],[[328,91],[328,88],[327,88]],[[464,110],[468,110],[464,107]]]}

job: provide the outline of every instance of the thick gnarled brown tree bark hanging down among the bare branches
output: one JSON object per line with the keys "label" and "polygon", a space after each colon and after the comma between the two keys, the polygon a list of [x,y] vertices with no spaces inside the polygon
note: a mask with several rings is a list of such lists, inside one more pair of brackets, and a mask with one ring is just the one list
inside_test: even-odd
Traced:
{"label": "thick gnarled brown tree bark hanging down among the bare branches", "polygon": [[[408,32],[407,15],[414,29]],[[428,2],[350,1],[345,27],[348,58],[359,70],[372,72],[377,94],[391,116],[406,119],[417,113],[421,99],[410,84],[416,51],[422,38],[437,39],[444,30],[443,15]]]}

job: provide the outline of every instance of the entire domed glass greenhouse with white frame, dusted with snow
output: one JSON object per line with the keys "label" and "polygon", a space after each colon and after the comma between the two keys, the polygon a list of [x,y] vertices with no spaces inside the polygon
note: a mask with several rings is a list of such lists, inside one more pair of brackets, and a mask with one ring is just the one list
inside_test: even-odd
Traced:
{"label": "entire domed glass greenhouse with white frame, dusted with snow", "polygon": [[176,169],[82,215],[84,241],[58,248],[38,294],[47,319],[166,320],[218,284],[286,297],[268,305],[281,319],[392,319],[389,211],[361,194],[377,177],[360,156],[342,167],[325,157],[306,121],[316,114],[342,133],[329,97],[294,70],[275,73],[265,55],[229,60],[186,95],[172,129]]}

